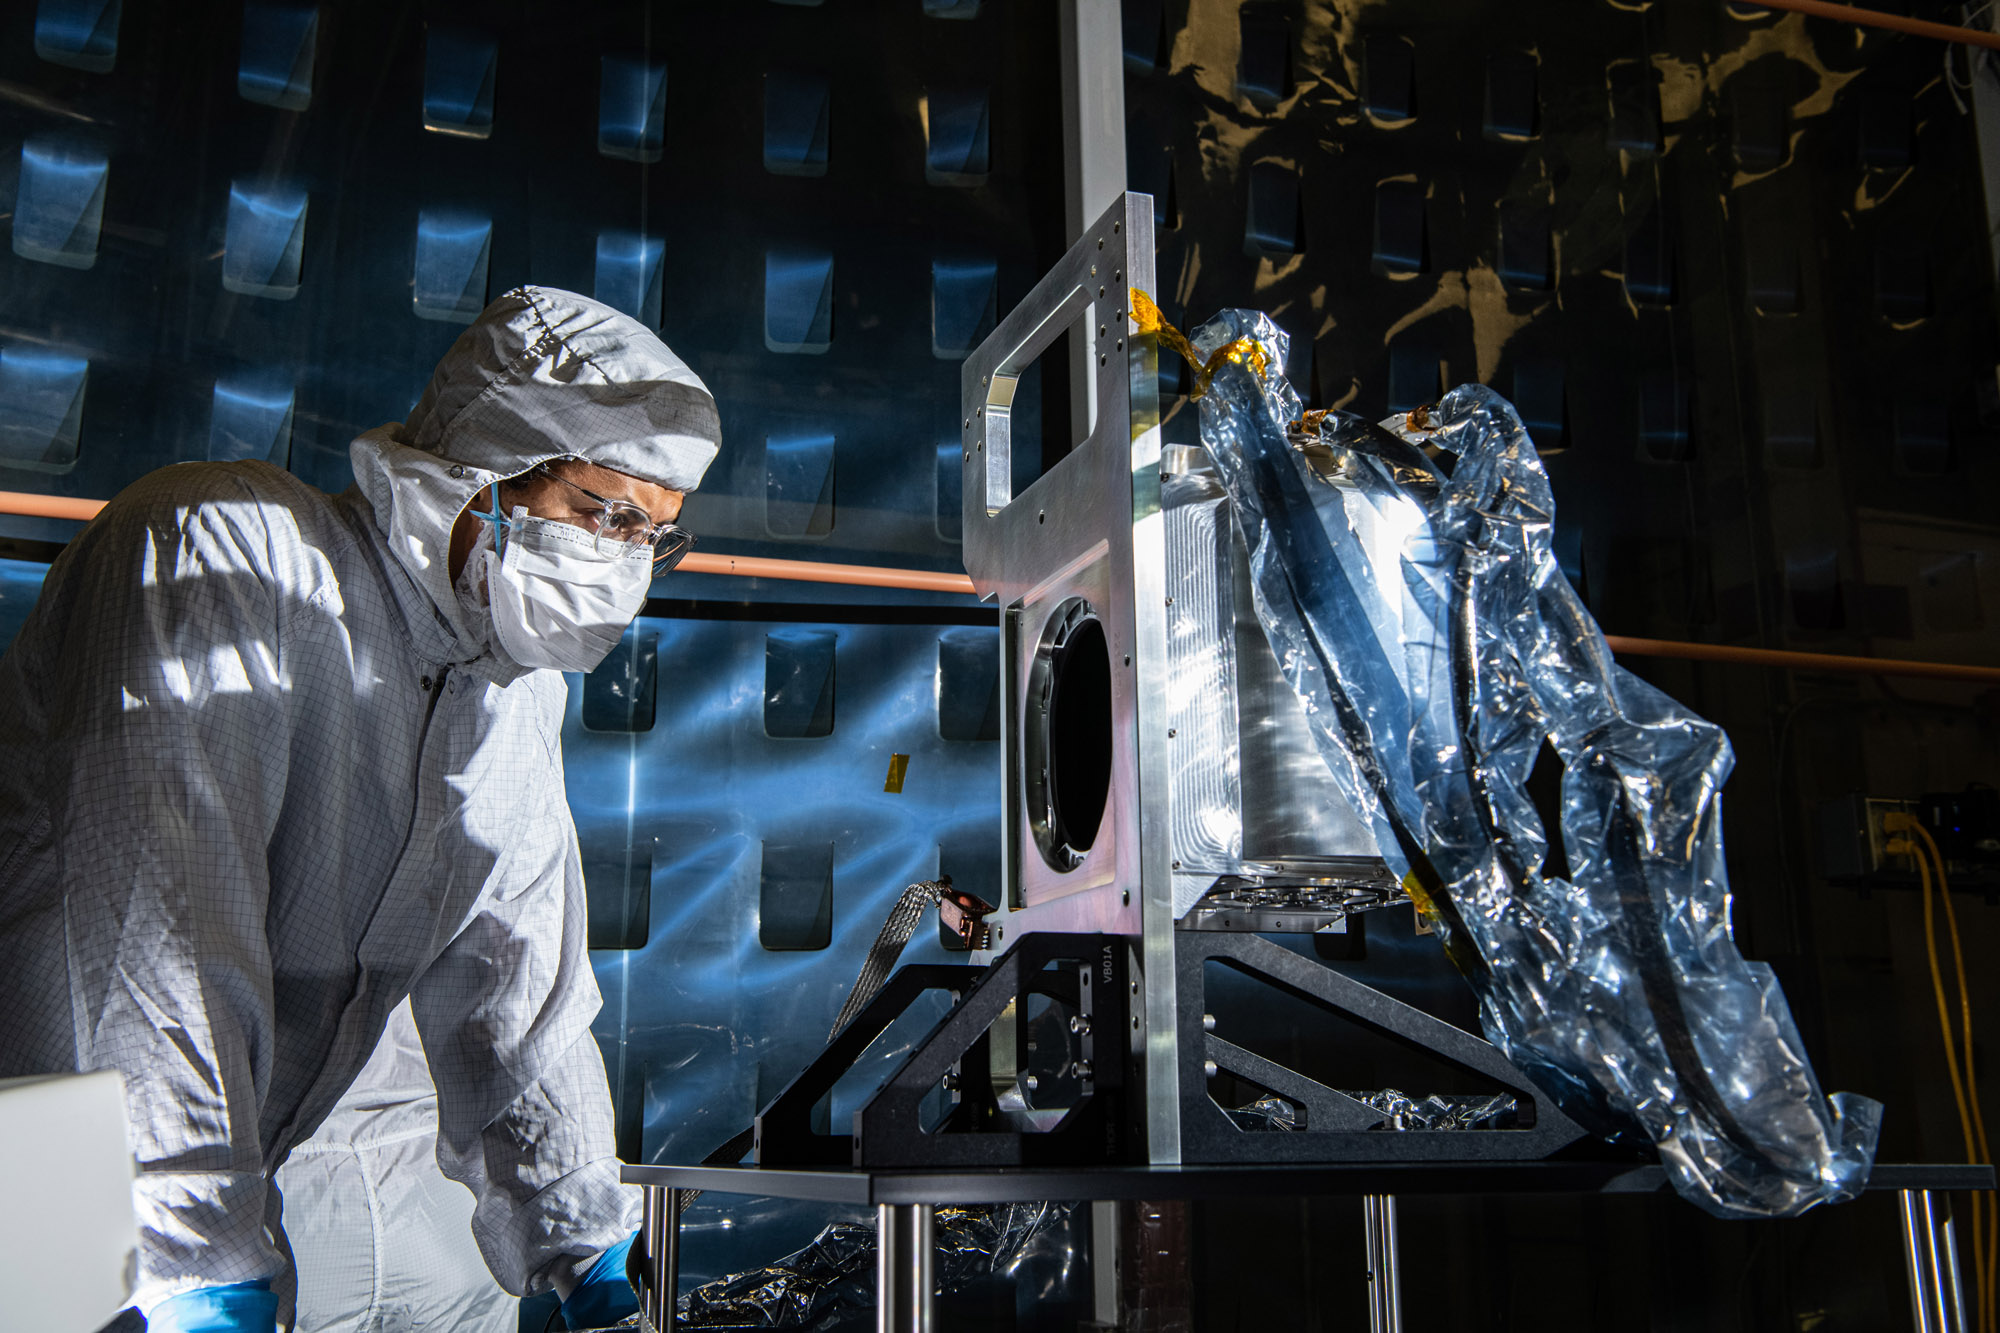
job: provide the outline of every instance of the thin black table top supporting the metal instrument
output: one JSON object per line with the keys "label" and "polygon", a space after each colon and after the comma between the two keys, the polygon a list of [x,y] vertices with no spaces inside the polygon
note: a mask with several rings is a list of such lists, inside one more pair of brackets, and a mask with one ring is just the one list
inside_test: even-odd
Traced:
{"label": "thin black table top supporting the metal instrument", "polygon": [[[1238,1199],[1300,1195],[1650,1195],[1654,1163],[1284,1163],[1254,1167],[796,1169],[626,1165],[628,1185],[816,1203],[1032,1203],[1036,1199]],[[1868,1189],[1992,1189],[1994,1169],[1876,1163]]]}

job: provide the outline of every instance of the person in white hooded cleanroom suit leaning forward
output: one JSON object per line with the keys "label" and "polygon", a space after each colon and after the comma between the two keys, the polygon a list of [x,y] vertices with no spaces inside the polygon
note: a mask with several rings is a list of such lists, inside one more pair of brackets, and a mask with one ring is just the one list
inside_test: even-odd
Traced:
{"label": "person in white hooded cleanroom suit leaning forward", "polygon": [[404,997],[494,1277],[632,1307],[534,669],[604,658],[716,446],[646,328],[522,288],[352,444],[352,490],[172,466],[56,560],[0,658],[0,1077],[124,1073],[156,1333],[288,1319],[272,1171]]}

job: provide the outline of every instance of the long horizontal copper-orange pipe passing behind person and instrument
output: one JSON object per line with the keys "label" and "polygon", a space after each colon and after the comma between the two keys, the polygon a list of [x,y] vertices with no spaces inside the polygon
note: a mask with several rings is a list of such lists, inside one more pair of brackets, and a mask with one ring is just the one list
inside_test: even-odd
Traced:
{"label": "long horizontal copper-orange pipe passing behind person and instrument", "polygon": [[[52,494],[0,490],[0,514],[30,518],[94,518],[104,500],[72,500]],[[738,578],[790,578],[796,582],[840,582],[858,588],[910,588],[916,592],[964,592],[972,580],[924,568],[888,568],[884,564],[824,564],[820,560],[770,560],[764,556],[726,556],[694,550],[680,568],[690,574],[736,574]],[[1626,638],[1606,634],[1604,642],[1620,656],[1676,656],[1696,662],[1740,662],[1746,666],[1780,666],[1790,671],[1840,671],[1866,677],[1928,677],[1932,681],[1980,681],[2000,685],[2000,666],[1962,666],[1958,662],[1908,662],[1894,656],[1840,656],[1834,652],[1780,652],[1776,648],[1736,648],[1720,642],[1678,642],[1672,638]]]}

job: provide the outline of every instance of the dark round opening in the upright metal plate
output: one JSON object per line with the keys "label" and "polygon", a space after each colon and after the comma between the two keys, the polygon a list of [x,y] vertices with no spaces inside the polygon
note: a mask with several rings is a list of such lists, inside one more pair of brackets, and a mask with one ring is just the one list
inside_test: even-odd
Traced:
{"label": "dark round opening in the upright metal plate", "polygon": [[1056,608],[1028,679],[1028,809],[1042,859],[1074,871],[1098,839],[1112,783],[1112,658],[1082,598]]}

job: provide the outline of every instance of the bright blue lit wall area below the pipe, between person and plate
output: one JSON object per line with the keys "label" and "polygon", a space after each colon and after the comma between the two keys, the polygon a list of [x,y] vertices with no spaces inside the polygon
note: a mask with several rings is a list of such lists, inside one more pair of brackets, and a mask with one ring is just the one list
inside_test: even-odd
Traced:
{"label": "bright blue lit wall area below the pipe, between person and plate", "polygon": [[[998,630],[654,616],[638,630],[658,634],[658,723],[588,731],[572,677],[564,763],[586,863],[652,849],[644,947],[596,955],[598,1031],[614,1083],[644,1091],[644,1159],[694,1161],[820,1049],[904,885],[942,863],[998,893],[998,743],[942,735],[986,735]],[[786,640],[794,660],[840,658],[824,687],[840,725],[820,739],[768,725]],[[890,755],[910,757],[896,795]],[[906,955],[942,957],[924,933]]]}

